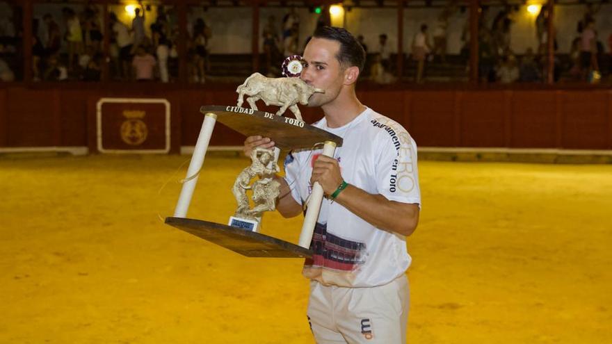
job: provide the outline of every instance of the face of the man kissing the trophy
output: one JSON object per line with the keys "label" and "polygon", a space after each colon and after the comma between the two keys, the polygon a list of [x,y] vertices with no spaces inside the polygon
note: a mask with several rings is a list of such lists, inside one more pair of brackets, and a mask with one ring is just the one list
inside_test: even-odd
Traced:
{"label": "face of the man kissing the trophy", "polygon": [[312,38],[306,45],[300,79],[325,90],[325,93],[314,93],[308,106],[323,106],[338,97],[344,81],[344,68],[336,58],[339,50],[339,42],[325,38]]}

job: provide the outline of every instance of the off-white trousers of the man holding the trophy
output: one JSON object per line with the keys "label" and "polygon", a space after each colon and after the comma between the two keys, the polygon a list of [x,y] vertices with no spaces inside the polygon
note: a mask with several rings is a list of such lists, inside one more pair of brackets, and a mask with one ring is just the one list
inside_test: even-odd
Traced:
{"label": "off-white trousers of the man holding the trophy", "polygon": [[310,282],[307,316],[316,343],[405,344],[410,288],[405,275],[383,286]]}

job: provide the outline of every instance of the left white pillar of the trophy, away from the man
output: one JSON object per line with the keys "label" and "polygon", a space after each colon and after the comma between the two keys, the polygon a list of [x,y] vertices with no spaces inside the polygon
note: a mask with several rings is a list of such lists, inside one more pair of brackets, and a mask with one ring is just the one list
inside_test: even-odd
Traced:
{"label": "left white pillar of the trophy, away from the man", "polygon": [[198,174],[204,163],[204,156],[208,149],[215,123],[217,122],[217,115],[214,113],[207,113],[204,116],[204,122],[202,123],[202,129],[200,129],[200,136],[198,136],[198,142],[195,143],[195,149],[191,156],[191,163],[187,170],[186,181],[183,183],[181,189],[181,195],[179,196],[179,202],[175,208],[175,218],[184,218],[187,215],[189,204],[191,204],[191,197],[193,196],[193,190],[195,189],[195,183],[198,182]]}

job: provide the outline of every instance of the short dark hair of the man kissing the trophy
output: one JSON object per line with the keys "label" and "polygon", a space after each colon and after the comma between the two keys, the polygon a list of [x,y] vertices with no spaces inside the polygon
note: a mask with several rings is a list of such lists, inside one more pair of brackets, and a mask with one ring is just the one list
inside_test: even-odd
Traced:
{"label": "short dark hair of the man kissing the trophy", "polygon": [[335,40],[340,43],[340,50],[336,58],[343,67],[357,67],[359,72],[363,72],[366,61],[366,52],[361,43],[350,32],[344,28],[335,26],[321,26],[314,31],[314,38],[325,38],[325,40]]}

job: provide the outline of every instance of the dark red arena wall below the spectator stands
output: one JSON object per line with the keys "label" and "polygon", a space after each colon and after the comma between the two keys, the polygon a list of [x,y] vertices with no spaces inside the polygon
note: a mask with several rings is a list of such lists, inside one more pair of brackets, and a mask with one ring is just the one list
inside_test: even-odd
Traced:
{"label": "dark red arena wall below the spectator stands", "polygon": [[[229,86],[166,86],[0,88],[0,147],[90,147],[95,151],[97,101],[134,97],[170,102],[171,151],[178,152],[182,146],[195,145],[203,117],[200,106],[236,104],[236,93]],[[612,149],[612,90],[608,89],[372,88],[360,90],[358,97],[403,124],[419,147]],[[306,122],[321,117],[320,110],[302,109]],[[241,145],[242,141],[241,135],[219,124],[211,145]]]}

